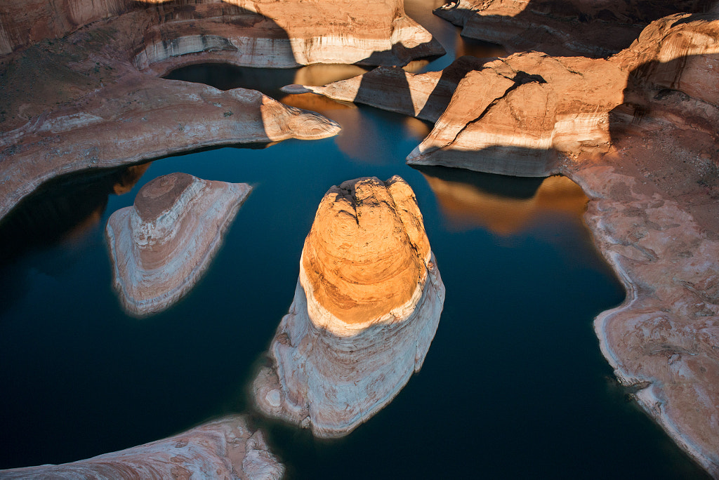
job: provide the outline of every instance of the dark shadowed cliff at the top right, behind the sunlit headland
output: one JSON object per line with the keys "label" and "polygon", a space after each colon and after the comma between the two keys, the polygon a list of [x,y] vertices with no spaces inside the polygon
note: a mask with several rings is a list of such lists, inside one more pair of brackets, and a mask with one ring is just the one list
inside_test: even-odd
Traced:
{"label": "dark shadowed cliff at the top right, behind the sunlit headland", "polygon": [[608,57],[628,47],[649,22],[678,12],[710,10],[714,0],[458,0],[434,13],[465,37],[509,52]]}

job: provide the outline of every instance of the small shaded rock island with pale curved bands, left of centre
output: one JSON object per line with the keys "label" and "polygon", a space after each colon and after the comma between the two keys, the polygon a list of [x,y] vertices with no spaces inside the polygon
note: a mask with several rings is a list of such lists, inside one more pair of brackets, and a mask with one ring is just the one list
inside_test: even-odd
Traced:
{"label": "small shaded rock island with pale curved bands, left of centre", "polygon": [[105,234],[124,308],[134,315],[157,313],[186,295],[250,190],[246,183],[171,173],[143,186],[132,207],[114,212]]}

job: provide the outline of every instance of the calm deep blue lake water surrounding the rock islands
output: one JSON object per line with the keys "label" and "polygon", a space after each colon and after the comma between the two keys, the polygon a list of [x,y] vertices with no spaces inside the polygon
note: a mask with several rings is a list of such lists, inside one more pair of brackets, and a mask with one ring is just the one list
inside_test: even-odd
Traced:
{"label": "calm deep blue lake water surrounding the rock islands", "polygon": [[[463,44],[457,29],[429,14],[437,5],[407,1],[408,13],[451,50],[413,68],[443,68],[458,51],[496,55],[495,47]],[[361,72],[214,65],[174,75],[283,98],[278,88],[298,79]],[[702,476],[626,401],[600,354],[592,318],[624,293],[592,246],[576,185],[414,170],[404,159],[428,124],[315,96],[285,101],[339,121],[342,133],[73,177],[0,226],[0,468],[88,458],[247,411],[247,385],[291,303],[322,196],[355,177],[401,175],[415,190],[446,286],[434,343],[398,397],[344,439],[314,440],[256,418],[290,478]],[[255,190],[191,294],[137,320],[111,288],[104,225],[142,185],[170,172]]]}

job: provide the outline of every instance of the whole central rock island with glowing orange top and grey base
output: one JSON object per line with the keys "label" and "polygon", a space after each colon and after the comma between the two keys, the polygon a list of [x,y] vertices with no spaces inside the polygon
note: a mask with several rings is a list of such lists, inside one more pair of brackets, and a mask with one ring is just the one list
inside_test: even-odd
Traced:
{"label": "whole central rock island with glowing orange top and grey base", "polygon": [[395,176],[332,187],[300,260],[295,297],[253,384],[270,417],[346,435],[418,371],[444,284],[414,193]]}

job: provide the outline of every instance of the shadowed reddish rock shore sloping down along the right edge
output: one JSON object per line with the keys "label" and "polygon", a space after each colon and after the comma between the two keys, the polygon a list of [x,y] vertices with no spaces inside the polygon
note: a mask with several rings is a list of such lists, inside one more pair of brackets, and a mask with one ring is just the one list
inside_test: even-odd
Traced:
{"label": "shadowed reddish rock shore sloping down along the right edge", "polygon": [[616,120],[625,130],[613,132],[608,154],[579,155],[562,170],[592,198],[585,220],[627,291],[595,320],[603,354],[639,405],[719,478],[717,133],[665,112]]}

